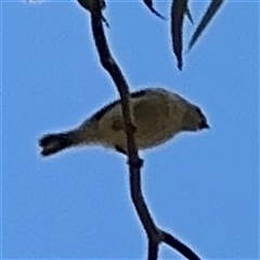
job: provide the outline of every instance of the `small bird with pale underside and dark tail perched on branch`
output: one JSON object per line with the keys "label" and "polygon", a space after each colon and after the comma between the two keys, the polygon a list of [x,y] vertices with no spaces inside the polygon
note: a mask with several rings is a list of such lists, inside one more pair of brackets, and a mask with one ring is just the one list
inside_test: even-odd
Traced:
{"label": "small bird with pale underside and dark tail perched on branch", "polygon": [[[129,107],[139,150],[158,146],[181,132],[209,129],[198,106],[166,88],[144,88],[131,92]],[[78,127],[44,134],[39,140],[42,156],[86,145],[128,154],[120,99],[103,106]]]}

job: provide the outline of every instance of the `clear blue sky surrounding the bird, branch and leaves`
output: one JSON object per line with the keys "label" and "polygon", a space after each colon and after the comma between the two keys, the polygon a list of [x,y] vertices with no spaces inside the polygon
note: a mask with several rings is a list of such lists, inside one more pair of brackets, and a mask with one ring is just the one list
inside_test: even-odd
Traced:
{"label": "clear blue sky surrounding the bird, branch and leaves", "polygon": [[[166,86],[200,105],[211,126],[141,153],[156,222],[205,259],[257,259],[259,4],[226,3],[182,73],[168,23],[142,1],[107,5],[106,32],[131,88]],[[156,2],[167,16],[169,5]],[[205,8],[193,2],[196,24]],[[1,12],[3,258],[144,257],[126,159],[91,147],[41,158],[37,146],[117,96],[89,14],[76,1],[4,1]],[[186,23],[185,46],[193,29]],[[180,256],[162,246],[160,257]]]}

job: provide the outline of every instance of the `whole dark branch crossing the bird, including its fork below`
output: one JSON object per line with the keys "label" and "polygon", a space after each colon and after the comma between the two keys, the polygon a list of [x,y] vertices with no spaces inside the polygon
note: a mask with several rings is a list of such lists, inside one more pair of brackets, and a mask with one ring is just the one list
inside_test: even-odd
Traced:
{"label": "whole dark branch crossing the bird, including its fork below", "polygon": [[148,260],[156,260],[158,257],[158,248],[161,242],[168,244],[172,248],[177,249],[187,259],[197,260],[198,257],[184,244],[180,243],[172,235],[160,231],[152,216],[148,211],[146,203],[142,194],[141,185],[141,166],[142,159],[140,159],[138,154],[138,147],[134,140],[134,126],[132,123],[130,107],[129,107],[129,87],[128,83],[117,65],[116,61],[112,56],[108,49],[107,40],[105,37],[103,28],[103,15],[102,8],[99,1],[92,1],[91,6],[91,27],[93,32],[93,38],[95,47],[99,52],[100,61],[102,66],[110,75],[113,81],[115,82],[117,90],[121,99],[122,117],[125,122],[127,144],[128,144],[128,159],[129,159],[129,172],[130,172],[130,193],[131,199],[133,202],[134,208],[138,212],[139,219],[146,232],[148,238]]}

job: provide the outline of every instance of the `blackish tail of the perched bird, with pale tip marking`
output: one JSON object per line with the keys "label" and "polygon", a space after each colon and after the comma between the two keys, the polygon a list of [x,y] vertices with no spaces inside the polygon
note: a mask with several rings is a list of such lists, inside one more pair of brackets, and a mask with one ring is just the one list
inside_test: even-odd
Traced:
{"label": "blackish tail of the perched bird, with pale tip marking", "polygon": [[39,146],[42,148],[42,156],[55,154],[72,145],[74,145],[72,133],[47,134],[39,140]]}

